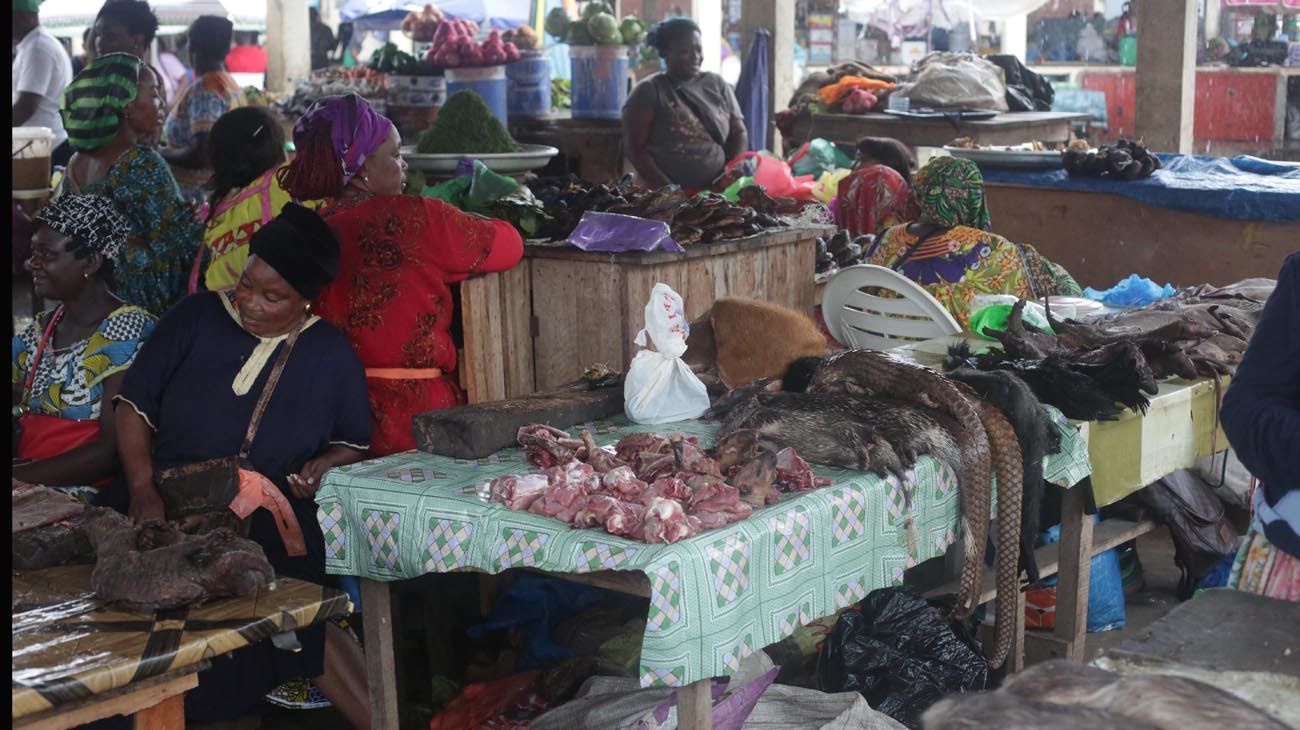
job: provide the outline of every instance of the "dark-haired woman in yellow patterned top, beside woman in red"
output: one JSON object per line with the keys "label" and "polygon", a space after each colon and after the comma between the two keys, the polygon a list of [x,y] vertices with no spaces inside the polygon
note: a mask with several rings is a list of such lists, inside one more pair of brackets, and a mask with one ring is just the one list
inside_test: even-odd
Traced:
{"label": "dark-haired woman in yellow patterned top, beside woman in red", "polygon": [[[277,171],[285,164],[285,132],[265,107],[231,109],[212,126],[212,194],[203,234],[209,291],[234,288],[248,260],[248,240],[280,214],[289,194]],[[191,281],[191,291],[198,284]]]}

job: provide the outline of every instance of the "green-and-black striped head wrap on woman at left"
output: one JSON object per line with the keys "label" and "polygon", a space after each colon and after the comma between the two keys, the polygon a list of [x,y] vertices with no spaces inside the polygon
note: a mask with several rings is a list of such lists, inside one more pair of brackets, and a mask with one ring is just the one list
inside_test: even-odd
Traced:
{"label": "green-and-black striped head wrap on woman at left", "polygon": [[135,101],[143,65],[130,53],[109,53],[77,74],[61,110],[73,149],[98,149],[117,135],[122,112]]}

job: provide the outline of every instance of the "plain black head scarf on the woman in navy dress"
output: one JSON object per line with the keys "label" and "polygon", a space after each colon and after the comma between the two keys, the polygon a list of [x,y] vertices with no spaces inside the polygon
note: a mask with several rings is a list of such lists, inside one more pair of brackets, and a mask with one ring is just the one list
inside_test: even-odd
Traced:
{"label": "plain black head scarf on the woman in navy dress", "polygon": [[307,299],[316,299],[338,275],[338,238],[324,218],[296,203],[252,234],[248,252]]}

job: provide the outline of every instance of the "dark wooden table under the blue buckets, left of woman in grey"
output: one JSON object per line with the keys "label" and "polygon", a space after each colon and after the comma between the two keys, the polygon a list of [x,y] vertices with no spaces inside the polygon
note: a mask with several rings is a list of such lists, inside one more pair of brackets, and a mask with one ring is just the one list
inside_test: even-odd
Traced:
{"label": "dark wooden table under the blue buckets, left of woman in grey", "polygon": [[575,120],[568,112],[510,118],[510,135],[525,144],[560,151],[564,173],[594,183],[611,183],[632,170],[623,152],[621,120]]}

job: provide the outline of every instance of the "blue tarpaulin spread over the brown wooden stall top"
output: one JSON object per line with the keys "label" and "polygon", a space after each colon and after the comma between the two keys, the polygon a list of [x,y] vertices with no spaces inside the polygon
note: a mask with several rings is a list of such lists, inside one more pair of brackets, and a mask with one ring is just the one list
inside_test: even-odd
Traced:
{"label": "blue tarpaulin spread over the brown wooden stall top", "polygon": [[1238,221],[1300,221],[1300,166],[1248,156],[1158,157],[1164,166],[1141,181],[1076,178],[1065,170],[980,171],[991,183],[1113,192],[1162,208]]}

